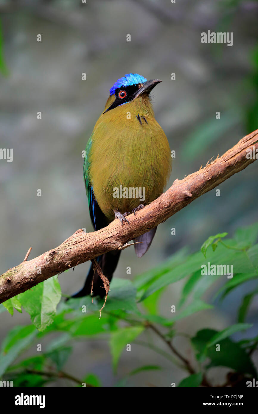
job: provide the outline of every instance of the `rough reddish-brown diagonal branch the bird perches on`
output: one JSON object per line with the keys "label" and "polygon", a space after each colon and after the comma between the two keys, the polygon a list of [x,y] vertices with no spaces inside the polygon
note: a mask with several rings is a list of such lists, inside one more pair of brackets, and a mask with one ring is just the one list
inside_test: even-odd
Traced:
{"label": "rough reddish-brown diagonal branch the bird perches on", "polygon": [[256,158],[246,157],[250,149],[258,152],[258,130],[246,135],[199,171],[183,180],[176,179],[157,200],[137,212],[136,216],[128,216],[130,226],[121,226],[120,221],[114,220],[109,226],[92,233],[77,230],[55,249],[8,270],[0,276],[0,303],[103,253],[122,250],[125,243],[162,223],[255,161]]}

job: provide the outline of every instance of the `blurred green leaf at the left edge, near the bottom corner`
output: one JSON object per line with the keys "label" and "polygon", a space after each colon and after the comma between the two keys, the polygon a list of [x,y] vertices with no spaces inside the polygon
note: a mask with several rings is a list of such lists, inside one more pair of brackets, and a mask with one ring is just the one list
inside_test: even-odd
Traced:
{"label": "blurred green leaf at the left edge, near the bottom corner", "polygon": [[2,342],[0,377],[25,348],[31,345],[37,331],[33,325],[17,326],[10,330]]}

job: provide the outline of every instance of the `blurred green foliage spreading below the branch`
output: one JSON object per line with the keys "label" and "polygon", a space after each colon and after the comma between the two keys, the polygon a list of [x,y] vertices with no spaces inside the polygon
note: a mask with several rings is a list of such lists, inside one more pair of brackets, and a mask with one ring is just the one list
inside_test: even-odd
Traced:
{"label": "blurred green foliage spreading below the branch", "polygon": [[[207,381],[207,371],[215,366],[233,369],[239,375],[257,377],[251,353],[258,346],[258,339],[248,338],[235,342],[230,337],[236,332],[251,328],[252,325],[245,323],[245,320],[251,301],[258,294],[258,287],[242,298],[235,324],[221,331],[207,327],[189,338],[199,367],[198,372],[194,372],[190,363],[186,363],[186,359],[173,345],[173,340],[178,335],[177,321],[212,308],[215,298],[211,303],[206,303],[203,301],[203,295],[217,279],[227,277],[204,275],[201,270],[203,265],[233,265],[233,277],[226,279],[217,289],[215,297],[220,296],[220,300],[224,300],[227,294],[240,284],[250,279],[258,279],[258,223],[238,229],[233,238],[226,236],[227,233],[210,236],[200,251],[193,254],[188,254],[186,249],[180,250],[163,264],[137,276],[133,282],[115,278],[101,318],[99,309],[102,308],[103,301],[97,298],[94,298],[93,303],[89,296],[71,298],[66,302],[61,301],[58,305],[61,295],[56,277],[9,299],[3,305],[11,315],[14,312],[13,308],[19,312],[23,308],[31,315],[32,325],[17,326],[8,333],[2,343],[0,376],[12,379],[14,386],[41,387],[54,378],[66,378],[79,386],[84,386],[85,383],[86,386],[99,387],[101,378],[97,378],[94,373],[85,373],[84,379],[76,379],[61,370],[76,341],[102,337],[109,343],[114,371],[117,370],[122,352],[136,342],[162,353],[170,362],[188,371],[188,377],[176,384],[179,387],[198,387],[203,381]],[[171,318],[160,315],[159,301],[164,288],[183,278],[186,282],[181,297],[178,298],[178,304],[171,307]],[[149,329],[169,345],[171,355],[155,347],[152,342],[138,341],[137,338],[142,337]],[[48,342],[45,352],[14,364],[17,357],[35,341],[39,343],[42,337],[53,332],[57,333],[58,337]],[[131,375],[157,369],[162,367],[140,366],[121,378],[116,386],[126,386]]]}

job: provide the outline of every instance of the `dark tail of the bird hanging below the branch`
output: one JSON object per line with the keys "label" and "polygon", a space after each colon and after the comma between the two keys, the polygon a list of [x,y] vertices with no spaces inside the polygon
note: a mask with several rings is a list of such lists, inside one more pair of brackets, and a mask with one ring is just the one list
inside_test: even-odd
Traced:
{"label": "dark tail of the bird hanging below the branch", "polygon": [[[121,253],[121,250],[113,250],[111,252],[105,253],[104,255],[98,256],[96,259],[101,267],[103,274],[109,279],[109,282],[111,282],[113,273],[116,270],[116,266],[118,264],[120,253]],[[99,277],[99,275],[96,272],[95,273],[93,272],[92,265],[91,265],[83,288],[79,292],[72,295],[72,298],[80,298],[82,296],[87,296],[91,294],[92,277],[94,277],[92,295],[100,296],[101,298],[103,298],[106,295],[103,282],[101,278]]]}

